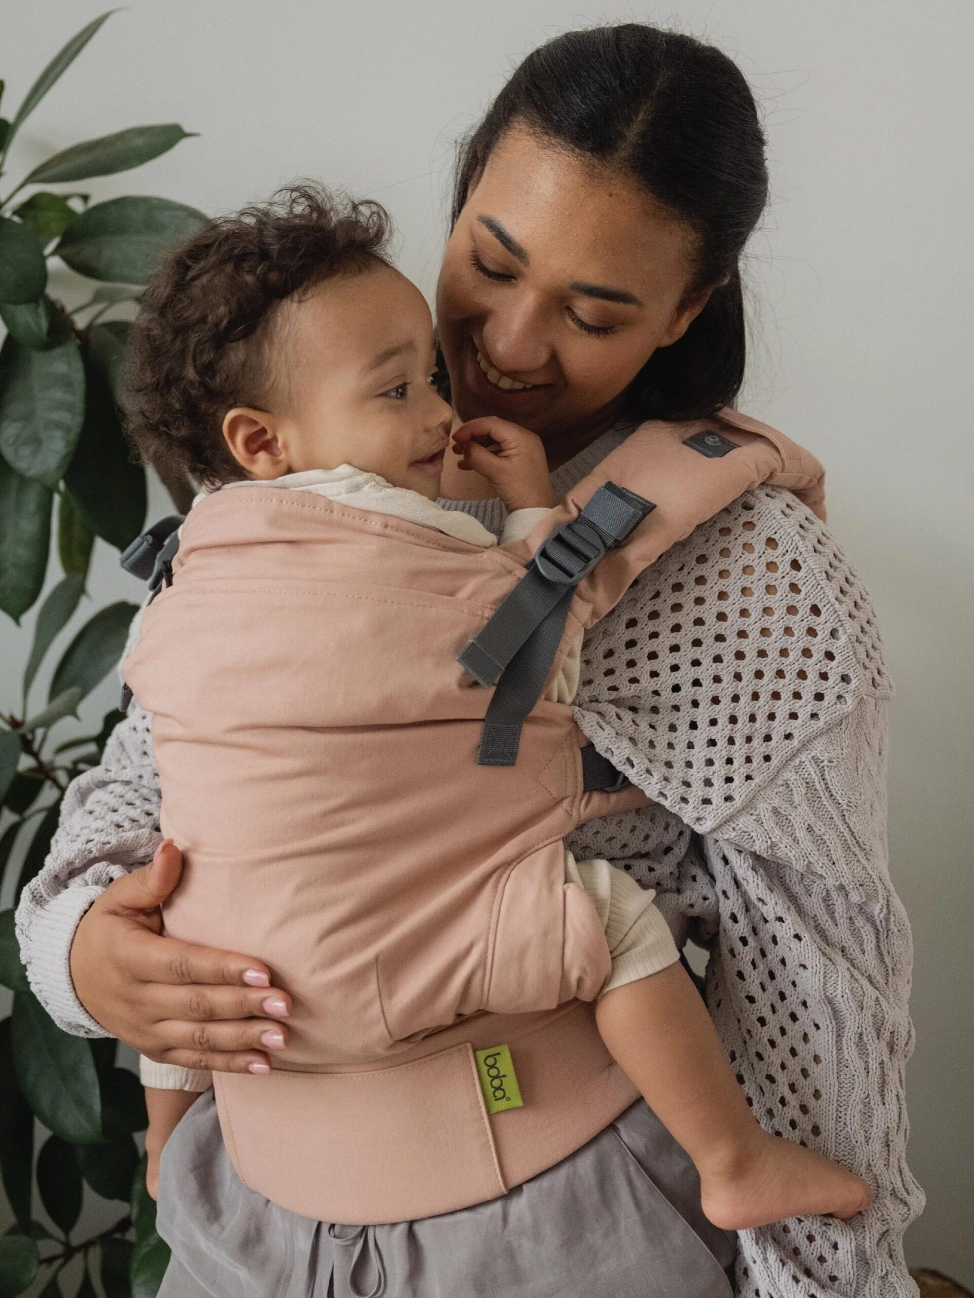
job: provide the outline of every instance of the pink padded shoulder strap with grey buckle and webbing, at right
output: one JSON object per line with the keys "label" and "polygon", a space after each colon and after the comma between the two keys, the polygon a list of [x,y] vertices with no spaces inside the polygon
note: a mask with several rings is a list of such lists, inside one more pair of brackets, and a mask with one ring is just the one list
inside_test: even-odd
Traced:
{"label": "pink padded shoulder strap with grey buckle and webbing, at right", "polygon": [[[823,517],[823,479],[806,450],[734,410],[630,434],[512,546],[527,563],[525,575],[460,654],[479,684],[496,684],[478,763],[517,762],[525,718],[544,689],[573,600],[583,624],[593,626],[665,550],[760,483],[788,487]],[[604,788],[590,781],[609,772],[593,772],[592,759],[584,787]]]}

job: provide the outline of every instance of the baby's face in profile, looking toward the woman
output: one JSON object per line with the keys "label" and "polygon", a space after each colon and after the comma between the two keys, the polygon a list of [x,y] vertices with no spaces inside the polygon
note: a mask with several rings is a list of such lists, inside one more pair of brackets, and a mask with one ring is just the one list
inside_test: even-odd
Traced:
{"label": "baby's face in profile, looking toward the woman", "polygon": [[279,472],[355,465],[435,500],[452,411],[430,383],[432,321],[419,289],[377,265],[326,280],[278,323]]}

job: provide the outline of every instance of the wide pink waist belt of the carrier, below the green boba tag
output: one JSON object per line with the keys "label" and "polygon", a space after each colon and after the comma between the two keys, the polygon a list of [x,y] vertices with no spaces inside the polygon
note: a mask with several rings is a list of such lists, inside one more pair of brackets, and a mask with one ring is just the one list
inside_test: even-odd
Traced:
{"label": "wide pink waist belt of the carrier, below the green boba tag", "polygon": [[[216,1073],[242,1180],[323,1221],[435,1216],[553,1167],[638,1098],[591,1005],[551,1016],[484,1015],[464,1025],[466,1040],[444,1046],[456,1032],[438,1035],[431,1054],[368,1072]],[[488,1114],[474,1051],[499,1045],[508,1046],[523,1105]]]}

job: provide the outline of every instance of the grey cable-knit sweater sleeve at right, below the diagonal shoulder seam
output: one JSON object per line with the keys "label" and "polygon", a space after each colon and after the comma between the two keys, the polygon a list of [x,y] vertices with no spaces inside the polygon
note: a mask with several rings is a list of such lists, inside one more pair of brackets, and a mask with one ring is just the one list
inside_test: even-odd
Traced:
{"label": "grey cable-knit sweater sleeve at right, below the diagonal shoulder seam", "polygon": [[884,859],[884,709],[864,700],[705,839],[719,916],[708,1005],[762,1125],[873,1188],[852,1221],[742,1236],[739,1294],[913,1298],[903,1233],[923,1208],[906,1167],[912,945]]}

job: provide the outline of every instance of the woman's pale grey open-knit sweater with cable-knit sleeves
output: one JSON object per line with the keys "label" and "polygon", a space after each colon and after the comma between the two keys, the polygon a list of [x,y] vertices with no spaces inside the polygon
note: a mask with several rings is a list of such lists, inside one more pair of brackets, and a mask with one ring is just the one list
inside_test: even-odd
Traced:
{"label": "woman's pale grey open-knit sweater with cable-knit sleeves", "polygon": [[[565,491],[618,444],[553,475]],[[492,531],[496,502],[468,505]],[[905,1164],[910,937],[886,864],[886,706],[875,618],[827,530],[760,488],[674,546],[586,637],[577,718],[655,800],[568,846],[656,889],[678,944],[710,950],[708,1003],[769,1129],[865,1176],[851,1223],[744,1232],[740,1298],[906,1298],[901,1237],[923,1206]],[[18,935],[57,1022],[96,1035],[68,950],[106,883],[158,841],[149,719],[132,709],[65,797]]]}

